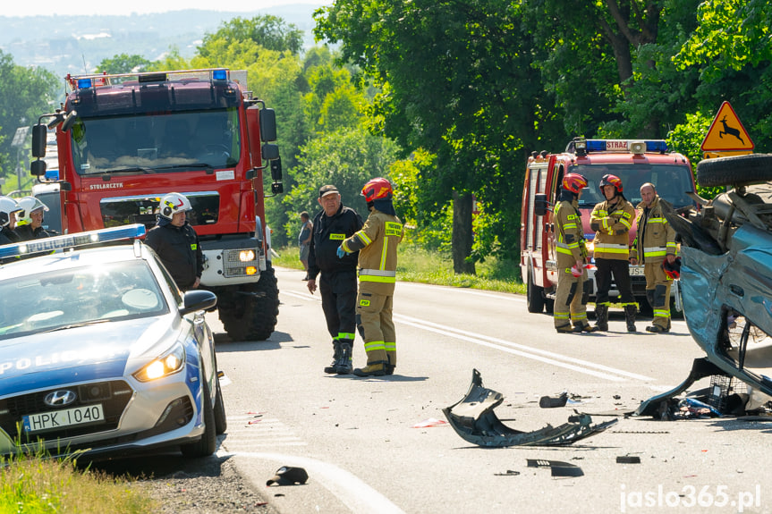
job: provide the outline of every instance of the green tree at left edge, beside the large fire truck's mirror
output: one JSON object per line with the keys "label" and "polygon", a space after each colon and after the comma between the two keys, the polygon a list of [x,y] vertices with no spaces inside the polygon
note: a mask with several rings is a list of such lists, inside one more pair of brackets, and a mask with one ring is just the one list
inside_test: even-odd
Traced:
{"label": "green tree at left edge, beside the large fire truck's mirror", "polygon": [[[13,176],[21,166],[22,183],[30,180],[30,142],[21,150],[12,147],[19,127],[31,127],[41,114],[54,110],[55,88],[59,85],[53,73],[42,68],[25,68],[13,63],[13,57],[0,50],[0,169],[6,177]],[[17,159],[18,157],[18,159]],[[11,181],[15,184],[15,181]],[[6,189],[13,189],[8,187]]]}

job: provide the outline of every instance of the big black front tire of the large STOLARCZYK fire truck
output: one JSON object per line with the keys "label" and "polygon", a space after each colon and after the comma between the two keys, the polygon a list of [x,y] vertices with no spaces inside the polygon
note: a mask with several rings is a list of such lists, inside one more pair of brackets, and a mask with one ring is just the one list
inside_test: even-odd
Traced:
{"label": "big black front tire of the large STOLARCZYK fire truck", "polygon": [[245,284],[232,298],[220,303],[218,314],[233,341],[265,341],[274,332],[279,316],[279,287],[271,265],[257,283]]}

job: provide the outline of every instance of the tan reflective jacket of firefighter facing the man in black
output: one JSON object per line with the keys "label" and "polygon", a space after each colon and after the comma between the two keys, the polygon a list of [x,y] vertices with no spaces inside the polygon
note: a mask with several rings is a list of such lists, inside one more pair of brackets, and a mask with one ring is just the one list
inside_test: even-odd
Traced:
{"label": "tan reflective jacket of firefighter facing the man in black", "polygon": [[398,217],[376,208],[370,210],[361,231],[343,242],[345,251],[360,252],[360,282],[396,282],[396,247],[402,238],[403,226]]}

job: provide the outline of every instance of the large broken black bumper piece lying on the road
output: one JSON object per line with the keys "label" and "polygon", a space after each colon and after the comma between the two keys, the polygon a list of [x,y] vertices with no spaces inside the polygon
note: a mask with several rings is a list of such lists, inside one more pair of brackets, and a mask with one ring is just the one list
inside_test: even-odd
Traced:
{"label": "large broken black bumper piece lying on the road", "polygon": [[500,392],[486,389],[477,369],[472,370],[469,391],[450,407],[442,409],[456,434],[464,441],[479,446],[501,448],[505,446],[563,446],[603,432],[616,423],[616,419],[592,425],[586,414],[568,417],[568,423],[560,426],[547,425],[533,432],[522,432],[505,426],[493,411],[504,401]]}

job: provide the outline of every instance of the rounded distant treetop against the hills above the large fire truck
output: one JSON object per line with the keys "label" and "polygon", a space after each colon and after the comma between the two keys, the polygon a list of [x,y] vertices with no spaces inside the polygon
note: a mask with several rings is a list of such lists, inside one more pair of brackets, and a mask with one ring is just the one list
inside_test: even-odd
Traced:
{"label": "rounded distant treetop against the hills above the large fire truck", "polygon": [[233,18],[231,21],[225,21],[214,34],[204,36],[198,54],[201,57],[210,57],[212,41],[223,39],[228,46],[252,41],[267,50],[289,51],[293,55],[299,55],[303,44],[302,37],[301,29],[271,14],[251,19]]}

